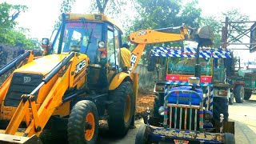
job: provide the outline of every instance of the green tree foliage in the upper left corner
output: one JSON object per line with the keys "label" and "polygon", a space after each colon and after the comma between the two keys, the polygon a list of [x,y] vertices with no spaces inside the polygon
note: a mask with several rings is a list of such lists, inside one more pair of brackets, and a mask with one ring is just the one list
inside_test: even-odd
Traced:
{"label": "green tree foliage in the upper left corner", "polygon": [[27,10],[26,6],[22,5],[10,5],[6,2],[0,4],[0,43],[10,46],[24,46],[26,48],[33,48],[34,44],[29,38],[26,38],[24,34],[25,29],[18,28],[15,19],[21,12]]}

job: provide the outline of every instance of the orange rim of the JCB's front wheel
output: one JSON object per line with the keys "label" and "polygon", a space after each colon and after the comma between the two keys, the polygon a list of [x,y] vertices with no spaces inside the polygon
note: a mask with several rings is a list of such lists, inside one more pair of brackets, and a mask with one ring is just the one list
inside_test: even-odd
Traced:
{"label": "orange rim of the JCB's front wheel", "polygon": [[89,130],[88,130],[88,128],[86,128],[86,133],[85,133],[86,140],[90,141],[94,137],[94,129],[95,129],[93,113],[88,113],[86,115],[86,124],[89,124],[91,126]]}

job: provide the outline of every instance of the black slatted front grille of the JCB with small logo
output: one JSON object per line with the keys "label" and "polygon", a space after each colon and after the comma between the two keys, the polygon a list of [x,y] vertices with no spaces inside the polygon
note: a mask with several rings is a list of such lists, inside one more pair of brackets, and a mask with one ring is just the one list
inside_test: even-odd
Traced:
{"label": "black slatted front grille of the JCB with small logo", "polygon": [[[22,94],[30,94],[42,82],[42,74],[14,73],[4,100],[5,106],[18,106]],[[34,94],[38,97],[38,92]]]}

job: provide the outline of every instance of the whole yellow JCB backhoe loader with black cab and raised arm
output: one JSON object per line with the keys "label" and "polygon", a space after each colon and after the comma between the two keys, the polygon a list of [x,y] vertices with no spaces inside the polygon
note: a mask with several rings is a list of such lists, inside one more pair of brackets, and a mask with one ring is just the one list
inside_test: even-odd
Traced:
{"label": "whole yellow JCB backhoe loader with black cab and raised arm", "polygon": [[155,30],[131,34],[131,41],[142,37],[143,42],[132,51],[126,70],[120,54],[122,30],[112,19],[103,14],[61,18],[53,41],[42,41],[44,56],[34,59],[28,51],[0,70],[2,75],[16,67],[0,87],[4,129],[0,142],[40,143],[38,136],[53,117],[67,121],[70,143],[95,143],[98,120],[103,118],[111,134],[126,134],[134,126],[138,90],[134,69],[146,44],[192,38],[184,26],[179,27],[181,34]]}

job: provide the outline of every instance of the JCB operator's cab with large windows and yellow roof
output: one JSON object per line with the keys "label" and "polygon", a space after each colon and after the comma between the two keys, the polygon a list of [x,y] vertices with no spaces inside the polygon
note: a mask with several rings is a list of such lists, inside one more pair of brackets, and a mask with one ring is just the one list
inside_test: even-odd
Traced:
{"label": "JCB operator's cab with large windows and yellow roof", "polygon": [[[90,87],[107,89],[111,78],[122,68],[121,46],[122,30],[112,19],[103,14],[66,14],[52,42],[51,53],[86,54],[90,58]],[[101,68],[106,66],[110,69],[104,73]]]}

